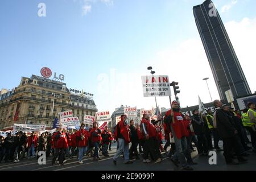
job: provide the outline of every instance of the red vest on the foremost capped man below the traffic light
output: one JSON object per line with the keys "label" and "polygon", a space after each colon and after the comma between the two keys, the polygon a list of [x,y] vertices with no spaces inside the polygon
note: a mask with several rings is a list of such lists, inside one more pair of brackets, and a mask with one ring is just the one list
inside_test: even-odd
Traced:
{"label": "red vest on the foremost capped man below the traffic light", "polygon": [[[166,116],[170,114],[171,114],[171,110],[167,111]],[[175,119],[175,123],[171,122],[171,125],[177,139],[181,139],[182,137],[188,137],[189,136],[188,129],[185,126],[182,115],[174,111],[174,119]]]}

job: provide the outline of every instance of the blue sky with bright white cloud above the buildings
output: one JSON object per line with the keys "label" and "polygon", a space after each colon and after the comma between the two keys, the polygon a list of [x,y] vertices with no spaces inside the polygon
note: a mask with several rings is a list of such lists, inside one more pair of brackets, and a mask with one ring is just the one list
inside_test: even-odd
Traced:
{"label": "blue sky with bright white cloud above the buildings", "polygon": [[[213,1],[228,31],[251,91],[256,90],[255,0]],[[39,3],[46,17],[38,16]],[[94,93],[100,111],[120,105],[150,109],[141,76],[168,75],[179,82],[182,107],[218,99],[212,72],[193,18],[201,0],[1,0],[0,88],[42,67],[65,75],[68,88]],[[174,97],[172,97],[174,99]],[[170,107],[168,97],[158,98]]]}

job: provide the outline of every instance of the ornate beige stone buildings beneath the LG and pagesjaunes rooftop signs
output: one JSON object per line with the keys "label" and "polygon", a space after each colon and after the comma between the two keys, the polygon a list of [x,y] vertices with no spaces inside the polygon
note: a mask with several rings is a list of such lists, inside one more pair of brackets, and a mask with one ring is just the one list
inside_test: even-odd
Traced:
{"label": "ornate beige stone buildings beneath the LG and pagesjaunes rooftop signs", "polygon": [[[83,122],[83,113],[94,115],[97,107],[91,98],[74,95],[63,82],[32,75],[0,100],[0,130],[12,130],[14,123],[42,124],[51,129],[59,112],[73,110]],[[54,104],[53,104],[54,100]],[[83,106],[81,103],[84,103]]]}

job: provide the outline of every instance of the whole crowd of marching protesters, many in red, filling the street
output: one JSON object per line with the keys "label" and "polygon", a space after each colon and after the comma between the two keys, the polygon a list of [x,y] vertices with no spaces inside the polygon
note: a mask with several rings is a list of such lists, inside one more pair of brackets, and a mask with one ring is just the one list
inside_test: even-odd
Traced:
{"label": "whole crowd of marching protesters, many in red, filling the street", "polygon": [[[214,101],[215,111],[207,110],[200,113],[193,110],[193,115],[182,114],[177,101],[172,102],[172,108],[158,121],[150,121],[149,114],[143,114],[141,124],[126,121],[127,116],[121,115],[121,121],[114,127],[113,133],[105,126],[99,129],[98,123],[85,130],[82,123],[79,130],[69,133],[66,129],[59,129],[55,133],[48,132],[27,135],[19,131],[15,135],[7,134],[0,137],[0,162],[19,162],[28,158],[39,158],[39,151],[46,151],[46,156],[53,156],[52,165],[64,165],[67,159],[76,157],[82,164],[83,156],[90,156],[93,160],[101,160],[102,155],[109,157],[112,140],[117,141],[117,152],[113,157],[117,165],[119,156],[123,155],[125,164],[132,164],[132,160],[155,163],[162,162],[162,153],[168,151],[168,157],[175,166],[179,164],[184,170],[193,170],[191,165],[197,163],[192,160],[192,152],[197,148],[199,156],[208,156],[209,151],[224,151],[227,164],[247,163],[245,157],[248,151],[256,152],[256,112],[255,104],[249,102],[248,109],[240,115],[232,107],[222,105],[221,101]],[[166,143],[163,147],[163,133]],[[251,142],[247,138],[250,134]],[[213,139],[213,143],[212,143]],[[219,147],[223,141],[223,150]],[[251,146],[248,144],[251,143]],[[129,145],[130,144],[130,145]],[[214,144],[214,146],[213,146]],[[130,148],[129,148],[130,146]],[[138,151],[139,150],[139,151]],[[140,157],[141,155],[141,157]]]}

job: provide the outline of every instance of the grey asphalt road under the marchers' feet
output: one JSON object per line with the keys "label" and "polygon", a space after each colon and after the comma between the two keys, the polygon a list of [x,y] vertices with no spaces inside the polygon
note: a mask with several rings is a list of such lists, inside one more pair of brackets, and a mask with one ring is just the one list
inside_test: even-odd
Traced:
{"label": "grey asphalt road under the marchers' feet", "polygon": [[[221,145],[220,145],[221,146]],[[221,146],[222,147],[222,146]],[[0,171],[178,171],[180,168],[174,166],[167,154],[162,153],[161,163],[143,163],[141,160],[133,160],[133,164],[123,164],[122,156],[118,159],[117,166],[113,164],[113,156],[116,151],[116,143],[113,144],[110,157],[101,156],[100,161],[93,161],[88,156],[84,157],[84,164],[79,164],[78,160],[69,159],[64,166],[51,166],[51,158],[47,158],[46,165],[39,165],[36,159],[23,159],[19,163],[1,163]],[[196,171],[251,171],[256,170],[256,154],[249,151],[247,164],[229,166],[225,164],[223,152],[217,152],[217,165],[210,165],[210,156],[198,156],[197,152],[192,153],[194,162],[192,166]],[[101,154],[101,152],[100,152]],[[141,156],[142,158],[142,156]]]}

